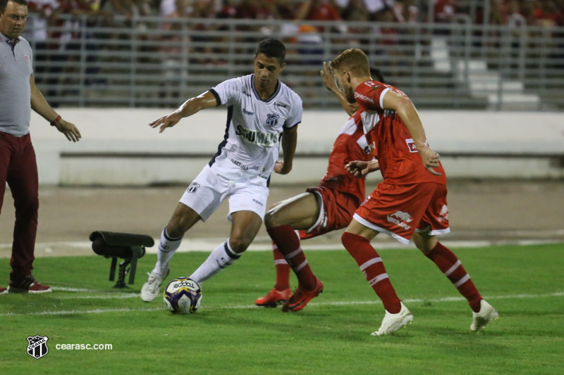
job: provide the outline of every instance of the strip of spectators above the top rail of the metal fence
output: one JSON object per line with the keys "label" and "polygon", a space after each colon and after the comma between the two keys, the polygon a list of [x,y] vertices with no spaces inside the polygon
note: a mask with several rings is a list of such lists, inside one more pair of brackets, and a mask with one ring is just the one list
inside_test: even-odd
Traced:
{"label": "strip of spectators above the top rail of the metal fence", "polygon": [[[474,22],[483,23],[489,1],[489,23],[563,26],[564,0],[433,0],[433,21],[448,22],[474,3]],[[429,0],[30,0],[30,11],[44,22],[59,14],[164,18],[237,18],[259,20],[345,20],[426,22]],[[51,21],[52,22],[52,21]]]}

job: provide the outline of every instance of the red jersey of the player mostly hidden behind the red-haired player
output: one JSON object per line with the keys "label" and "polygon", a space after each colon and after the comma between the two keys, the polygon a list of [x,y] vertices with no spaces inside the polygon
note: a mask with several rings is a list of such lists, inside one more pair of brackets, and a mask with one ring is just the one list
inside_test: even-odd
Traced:
{"label": "red jersey of the player mostly hidden behind the red-haired player", "polygon": [[327,173],[321,179],[321,186],[328,189],[348,193],[358,198],[358,203],[364,201],[364,179],[357,179],[345,170],[345,165],[353,160],[372,160],[371,148],[364,136],[360,111],[353,114],[345,122],[341,132],[331,148],[329,155],[329,167]]}

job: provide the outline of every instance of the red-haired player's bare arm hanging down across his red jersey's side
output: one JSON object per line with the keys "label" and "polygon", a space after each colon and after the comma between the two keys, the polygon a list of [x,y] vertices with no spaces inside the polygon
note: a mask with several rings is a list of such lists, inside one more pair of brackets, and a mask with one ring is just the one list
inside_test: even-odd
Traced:
{"label": "red-haired player's bare arm hanging down across his red jersey's side", "polygon": [[407,96],[400,95],[393,90],[389,90],[384,95],[384,100],[382,101],[382,106],[385,110],[395,110],[400,116],[401,120],[409,130],[415,146],[417,146],[417,151],[421,156],[423,165],[429,172],[440,176],[441,173],[436,172],[434,167],[439,167],[439,154],[431,150],[427,143],[425,142],[425,131],[419,114],[413,106],[411,99]]}

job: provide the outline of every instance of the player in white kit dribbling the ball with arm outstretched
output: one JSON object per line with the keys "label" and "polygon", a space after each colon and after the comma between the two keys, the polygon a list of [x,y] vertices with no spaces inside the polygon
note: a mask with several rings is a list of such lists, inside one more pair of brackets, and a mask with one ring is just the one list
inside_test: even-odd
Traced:
{"label": "player in white kit dribbling the ball with arm outstretched", "polygon": [[[188,186],[161,233],[157,264],[141,289],[142,300],[157,297],[184,233],[199,220],[205,222],[225,198],[229,198],[231,234],[190,279],[201,283],[214,276],[240,258],[255,239],[266,210],[270,174],[292,169],[302,121],[300,96],[278,80],[285,57],[282,42],[264,39],[255,53],[254,74],[221,82],[149,124],[163,132],[202,109],[228,106],[227,128],[217,153]],[[280,144],[283,162],[277,161]]]}

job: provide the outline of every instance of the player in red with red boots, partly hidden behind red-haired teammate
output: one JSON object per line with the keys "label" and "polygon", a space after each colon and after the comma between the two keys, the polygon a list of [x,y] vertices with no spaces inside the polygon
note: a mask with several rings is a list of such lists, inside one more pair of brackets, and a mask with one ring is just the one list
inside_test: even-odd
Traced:
{"label": "player in red with red boots, partly hidden behind red-haired teammate", "polygon": [[[276,203],[264,217],[266,231],[274,242],[276,284],[255,303],[266,307],[284,303],[284,312],[302,310],[309,300],[323,291],[323,283],[307,264],[300,239],[310,239],[348,226],[355,210],[364,201],[365,193],[364,177],[356,179],[345,170],[345,165],[353,160],[369,161],[374,158],[364,136],[360,113],[355,113],[357,106],[346,101],[327,65],[324,64],[320,73],[325,86],[336,94],[352,116],[333,144],[329,167],[319,186]],[[298,288],[293,294],[289,284],[290,267],[298,277]]]}

